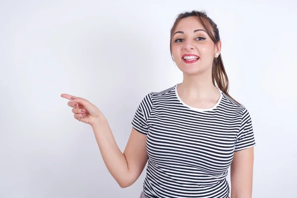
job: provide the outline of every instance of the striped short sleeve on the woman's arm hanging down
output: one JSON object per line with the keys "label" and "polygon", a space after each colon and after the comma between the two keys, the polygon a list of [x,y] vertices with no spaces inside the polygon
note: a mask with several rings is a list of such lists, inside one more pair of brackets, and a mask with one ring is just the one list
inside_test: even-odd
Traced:
{"label": "striped short sleeve on the woman's arm hanging down", "polygon": [[253,127],[251,123],[251,117],[247,108],[245,108],[241,120],[241,126],[237,138],[235,140],[234,151],[243,150],[255,146],[255,138],[253,133]]}

